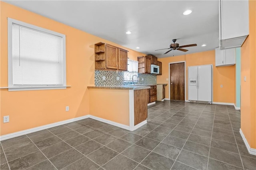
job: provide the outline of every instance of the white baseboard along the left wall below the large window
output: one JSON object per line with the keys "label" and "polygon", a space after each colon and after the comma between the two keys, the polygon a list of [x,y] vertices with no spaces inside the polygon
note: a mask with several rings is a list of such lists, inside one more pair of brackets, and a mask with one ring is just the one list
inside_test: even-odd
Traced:
{"label": "white baseboard along the left wall below the large window", "polygon": [[14,138],[14,137],[17,137],[17,136],[21,136],[21,135],[24,135],[24,134],[32,133],[32,132],[37,132],[37,131],[44,130],[44,129],[47,129],[47,128],[52,128],[52,127],[56,127],[56,126],[59,126],[59,125],[64,125],[64,124],[67,124],[67,123],[80,121],[82,119],[86,119],[86,118],[89,118],[89,117],[90,117],[90,115],[76,117],[76,118],[68,119],[68,120],[65,120],[65,121],[60,121],[60,122],[51,123],[51,124],[48,124],[48,125],[43,125],[43,126],[40,126],[40,127],[35,127],[35,128],[27,129],[27,130],[22,130],[22,131],[19,131],[19,132],[5,134],[5,135],[0,136],[0,141],[10,139],[10,138]]}

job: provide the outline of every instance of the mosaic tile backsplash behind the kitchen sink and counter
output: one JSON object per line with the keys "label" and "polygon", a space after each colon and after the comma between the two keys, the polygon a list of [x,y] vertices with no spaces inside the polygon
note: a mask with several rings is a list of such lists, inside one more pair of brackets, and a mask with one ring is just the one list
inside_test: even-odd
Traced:
{"label": "mosaic tile backsplash behind the kitchen sink and counter", "polygon": [[[122,86],[132,84],[132,81],[124,81],[125,73],[127,72],[95,70],[95,86]],[[103,76],[105,76],[105,80],[103,80]],[[117,80],[117,77],[119,77],[119,80]],[[139,80],[134,81],[134,84],[156,84],[156,75],[138,74],[138,78]]]}

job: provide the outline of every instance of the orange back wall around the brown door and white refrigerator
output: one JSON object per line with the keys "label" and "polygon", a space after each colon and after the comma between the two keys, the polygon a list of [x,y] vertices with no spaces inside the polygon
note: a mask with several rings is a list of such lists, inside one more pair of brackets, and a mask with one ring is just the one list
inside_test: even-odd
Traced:
{"label": "orange back wall around the brown door and white refrigerator", "polygon": [[[157,83],[167,83],[169,63],[186,61],[186,100],[188,100],[188,66],[213,64],[213,101],[235,103],[235,66],[215,67],[215,50],[159,58],[162,62],[162,75],[157,76]],[[220,88],[223,85],[223,88]],[[166,86],[166,98],[169,97],[169,85]]]}

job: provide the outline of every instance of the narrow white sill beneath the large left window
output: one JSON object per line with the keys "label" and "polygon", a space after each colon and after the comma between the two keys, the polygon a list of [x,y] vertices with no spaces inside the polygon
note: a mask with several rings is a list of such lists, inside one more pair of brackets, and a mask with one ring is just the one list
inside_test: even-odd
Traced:
{"label": "narrow white sill beneath the large left window", "polygon": [[22,86],[22,87],[0,87],[0,89],[8,89],[8,91],[28,91],[28,90],[54,90],[54,89],[66,89],[67,86]]}

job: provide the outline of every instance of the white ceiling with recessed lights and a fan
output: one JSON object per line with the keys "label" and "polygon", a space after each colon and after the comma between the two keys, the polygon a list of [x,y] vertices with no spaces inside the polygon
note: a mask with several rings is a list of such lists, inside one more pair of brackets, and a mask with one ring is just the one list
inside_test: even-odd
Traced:
{"label": "white ceiling with recessed lights and a fan", "polygon": [[[5,2],[157,57],[208,51],[218,46],[218,0]],[[192,13],[184,16],[188,9]],[[125,34],[126,31],[132,34]],[[180,45],[197,43],[198,46],[165,55],[167,50],[154,51],[168,48],[172,39],[177,39]]]}

